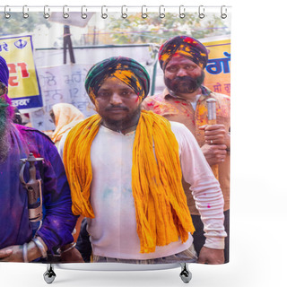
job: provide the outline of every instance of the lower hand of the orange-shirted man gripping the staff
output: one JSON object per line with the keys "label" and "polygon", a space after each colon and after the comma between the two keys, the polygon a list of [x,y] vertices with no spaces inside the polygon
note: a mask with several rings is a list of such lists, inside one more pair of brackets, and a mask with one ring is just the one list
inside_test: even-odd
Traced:
{"label": "lower hand of the orange-shirted man gripping the staff", "polygon": [[222,163],[226,158],[225,144],[204,144],[201,147],[201,151],[204,153],[205,160],[210,166],[214,164]]}

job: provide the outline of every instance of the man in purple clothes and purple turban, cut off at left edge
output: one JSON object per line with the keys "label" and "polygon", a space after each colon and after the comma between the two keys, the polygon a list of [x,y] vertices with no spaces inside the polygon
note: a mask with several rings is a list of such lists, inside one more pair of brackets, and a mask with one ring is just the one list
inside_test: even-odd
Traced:
{"label": "man in purple clothes and purple turban, cut off at left edge", "polygon": [[[83,262],[75,249],[65,252],[74,247],[72,232],[77,218],[71,210],[70,188],[57,148],[38,130],[13,124],[8,79],[8,66],[0,57],[0,262],[39,261],[52,248],[61,248],[63,261]],[[28,162],[21,165],[21,160],[31,155],[42,158],[35,162],[33,173],[41,178],[39,201],[43,211],[38,209],[37,214],[43,213],[44,218],[38,222],[30,211],[35,211],[32,204],[39,201],[33,202],[20,177],[23,168],[23,181],[32,178]]]}

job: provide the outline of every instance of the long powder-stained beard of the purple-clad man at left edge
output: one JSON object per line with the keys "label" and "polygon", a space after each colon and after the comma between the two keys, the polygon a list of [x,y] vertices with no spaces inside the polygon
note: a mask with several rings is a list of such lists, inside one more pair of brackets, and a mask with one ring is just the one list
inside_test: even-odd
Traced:
{"label": "long powder-stained beard of the purple-clad man at left edge", "polygon": [[8,107],[5,107],[6,102],[0,98],[0,163],[4,162],[10,151],[10,129],[12,119]]}

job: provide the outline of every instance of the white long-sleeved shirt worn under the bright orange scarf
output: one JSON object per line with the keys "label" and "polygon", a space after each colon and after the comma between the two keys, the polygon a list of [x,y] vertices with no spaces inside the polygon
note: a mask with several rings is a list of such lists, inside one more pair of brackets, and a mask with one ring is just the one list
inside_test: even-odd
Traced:
{"label": "white long-sleeved shirt worn under the bright orange scarf", "polygon": [[[179,143],[183,176],[202,212],[204,246],[224,248],[223,197],[218,181],[187,127],[175,122],[171,126]],[[190,235],[184,244],[178,239],[168,246],[157,247],[154,253],[140,253],[131,176],[134,140],[135,132],[122,135],[100,126],[91,143],[91,206],[95,218],[87,220],[94,256],[144,260],[167,257],[192,244]],[[60,145],[63,150],[64,141]]]}

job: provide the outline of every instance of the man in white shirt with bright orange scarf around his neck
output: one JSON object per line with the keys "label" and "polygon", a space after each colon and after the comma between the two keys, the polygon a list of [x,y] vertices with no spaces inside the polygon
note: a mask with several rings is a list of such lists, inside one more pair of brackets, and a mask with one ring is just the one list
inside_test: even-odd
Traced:
{"label": "man in white shirt with bright orange scarf around his neck", "polygon": [[133,59],[93,65],[85,88],[98,114],[60,143],[73,213],[87,218],[92,260],[196,262],[183,176],[207,230],[198,262],[221,264],[222,191],[187,128],[141,110],[149,86],[149,75]]}

